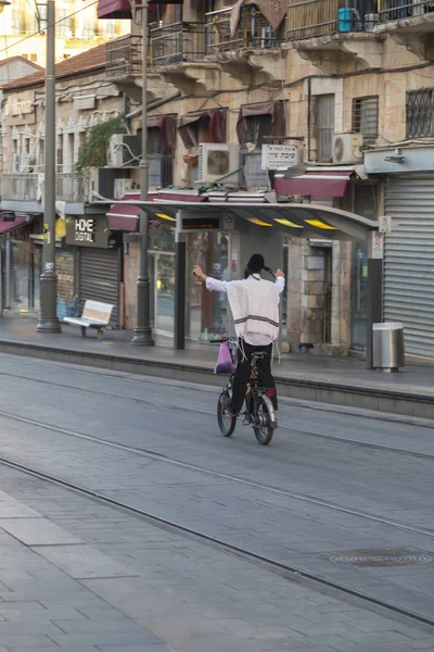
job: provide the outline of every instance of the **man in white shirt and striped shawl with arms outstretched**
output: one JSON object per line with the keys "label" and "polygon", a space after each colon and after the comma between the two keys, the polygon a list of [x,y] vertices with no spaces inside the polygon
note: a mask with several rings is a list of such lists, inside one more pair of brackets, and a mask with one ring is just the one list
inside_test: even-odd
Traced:
{"label": "man in white shirt and striped shawl with arms outstretched", "polygon": [[[275,278],[275,283],[260,276],[266,271]],[[243,280],[217,280],[203,273],[199,265],[193,274],[206,283],[210,291],[227,292],[239,341],[238,364],[233,380],[232,399],[222,398],[222,403],[231,416],[237,416],[242,409],[245,390],[250,380],[252,355],[264,351],[264,359],[258,361],[259,379],[267,388],[275,411],[278,410],[276,384],[271,374],[272,343],[279,337],[279,303],[284,288],[284,274],[281,269],[276,275],[265,266],[264,256],[254,253],[244,272]],[[227,404],[225,404],[225,402]],[[277,422],[276,422],[277,424]]]}

